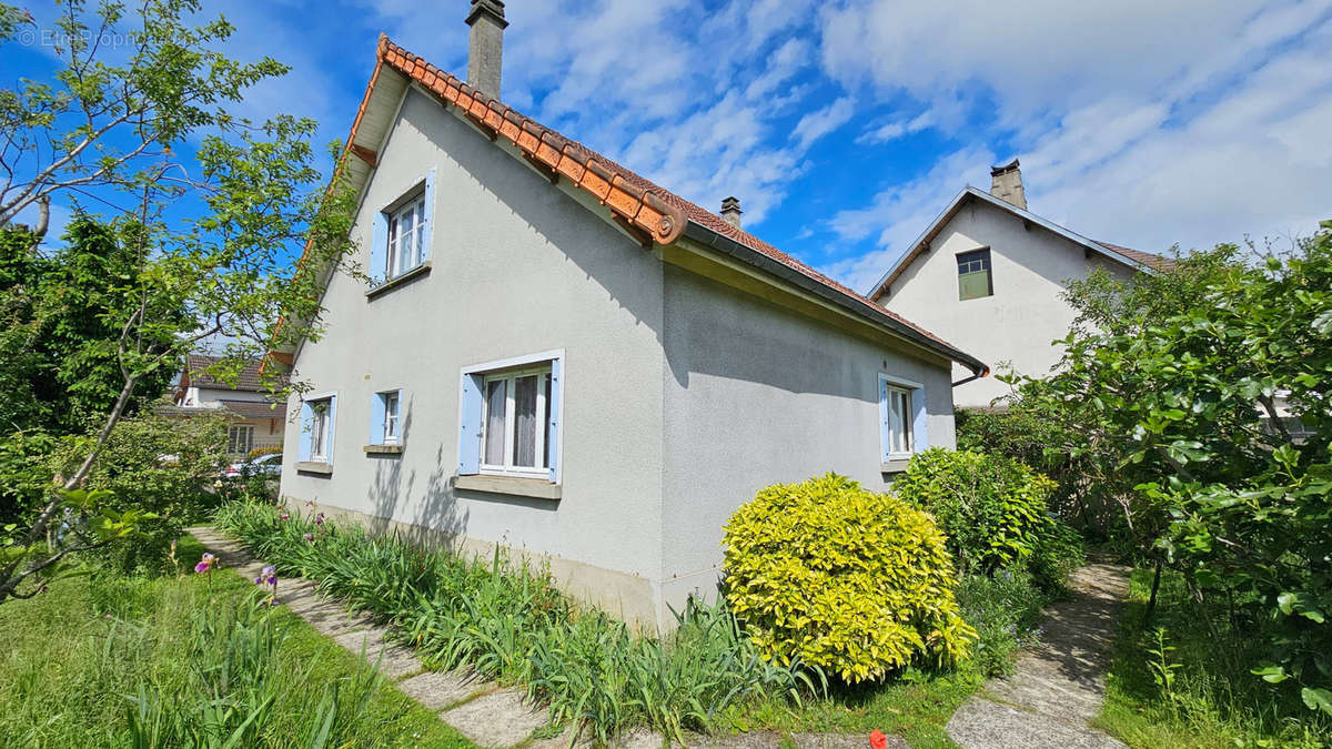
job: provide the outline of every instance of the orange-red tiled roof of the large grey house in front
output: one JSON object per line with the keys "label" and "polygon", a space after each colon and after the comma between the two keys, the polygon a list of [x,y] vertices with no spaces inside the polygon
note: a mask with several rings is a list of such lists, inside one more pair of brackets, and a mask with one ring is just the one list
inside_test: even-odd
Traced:
{"label": "orange-red tiled roof of the large grey house in front", "polygon": [[[493,141],[502,141],[517,149],[551,181],[558,181],[563,176],[590,193],[611,211],[622,228],[641,241],[667,245],[687,237],[815,293],[976,373],[988,371],[984,363],[928,331],[879,307],[749,232],[733,227],[721,216],[476,91],[382,35],[374,72],[346,141],[346,153],[356,159],[344,159],[341,167],[346,169],[357,189],[364,189],[369,181],[378,159],[378,149],[393,127],[397,101],[412,83],[441,104],[457,107]],[[270,356],[290,364],[290,352],[272,352]]]}

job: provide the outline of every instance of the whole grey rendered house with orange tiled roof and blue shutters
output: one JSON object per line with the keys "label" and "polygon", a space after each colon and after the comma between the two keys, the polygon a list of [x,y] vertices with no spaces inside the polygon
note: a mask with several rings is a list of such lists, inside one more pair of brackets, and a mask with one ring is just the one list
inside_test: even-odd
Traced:
{"label": "whole grey rendered house with orange tiled roof and blue shutters", "polygon": [[269,359],[309,386],[288,502],[538,554],[669,628],[761,488],[882,490],[954,445],[952,363],[982,361],[482,93],[502,5],[469,24],[480,88],[381,37],[344,167],[374,281],[325,269],[325,335]]}

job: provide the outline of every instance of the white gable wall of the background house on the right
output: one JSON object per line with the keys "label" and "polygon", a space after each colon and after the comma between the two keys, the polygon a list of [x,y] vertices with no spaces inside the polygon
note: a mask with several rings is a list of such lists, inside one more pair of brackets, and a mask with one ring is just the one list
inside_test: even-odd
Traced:
{"label": "white gable wall of the background house on the right", "polygon": [[[958,299],[956,255],[990,247],[994,295]],[[970,200],[914,260],[888,295],[875,301],[990,364],[1028,376],[1043,376],[1058,364],[1062,349],[1052,341],[1068,335],[1076,313],[1059,295],[1068,279],[1084,279],[1094,268],[1130,277],[1131,271],[1086,248],[978,200]],[[954,378],[971,376],[954,365]],[[986,406],[1010,392],[994,376],[959,385],[962,406]]]}

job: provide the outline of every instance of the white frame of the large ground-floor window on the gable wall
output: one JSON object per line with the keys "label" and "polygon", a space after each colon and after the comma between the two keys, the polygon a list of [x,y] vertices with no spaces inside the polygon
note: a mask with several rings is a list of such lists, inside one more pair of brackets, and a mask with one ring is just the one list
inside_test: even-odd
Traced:
{"label": "white frame of the large ground-floor window on the gable wall", "polygon": [[[559,378],[551,385],[551,398],[559,402],[559,420],[555,424],[555,454],[550,456],[555,461],[555,480],[554,484],[561,484],[563,476],[563,449],[565,449],[565,410],[567,409],[567,401],[565,400],[565,378],[567,373],[565,372],[565,349],[551,349],[539,353],[531,353],[525,356],[514,356],[509,359],[501,359],[496,361],[486,361],[482,364],[474,364],[462,368],[462,376],[481,376],[481,445],[480,445],[480,458],[477,461],[477,468],[482,474],[488,476],[510,476],[515,478],[547,478],[550,477],[549,461],[546,460],[546,445],[543,428],[537,429],[537,456],[539,456],[539,462],[547,464],[545,468],[529,468],[529,466],[513,466],[513,412],[514,412],[514,398],[513,398],[513,385],[505,386],[505,456],[506,465],[494,465],[486,462],[486,429],[489,428],[489,400],[486,397],[489,390],[489,382],[492,380],[503,378],[509,376],[521,376],[522,373],[535,373],[545,372],[547,376],[551,373],[554,361],[559,361],[561,374]],[[539,384],[537,386],[537,402],[541,420],[537,422],[543,426],[543,421],[550,418],[550,410],[546,400],[546,389]],[[458,410],[462,412],[462,393],[458,393]]]}

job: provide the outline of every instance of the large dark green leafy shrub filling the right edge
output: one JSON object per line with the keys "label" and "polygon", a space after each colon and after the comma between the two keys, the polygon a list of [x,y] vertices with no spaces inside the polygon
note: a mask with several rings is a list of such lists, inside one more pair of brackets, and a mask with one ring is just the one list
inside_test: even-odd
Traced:
{"label": "large dark green leafy shrub filling the right edge", "polygon": [[1075,291],[1095,325],[1015,404],[1067,425],[1047,453],[1110,486],[1131,538],[1184,573],[1208,622],[1223,606],[1264,638],[1264,678],[1332,713],[1332,223],[1256,264],[1236,252],[1144,281],[1175,284],[1168,297]]}

